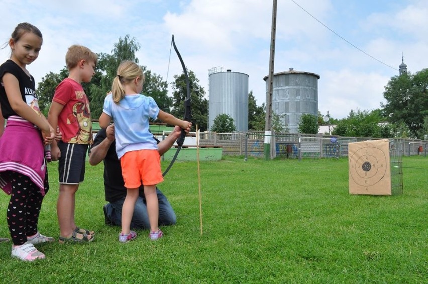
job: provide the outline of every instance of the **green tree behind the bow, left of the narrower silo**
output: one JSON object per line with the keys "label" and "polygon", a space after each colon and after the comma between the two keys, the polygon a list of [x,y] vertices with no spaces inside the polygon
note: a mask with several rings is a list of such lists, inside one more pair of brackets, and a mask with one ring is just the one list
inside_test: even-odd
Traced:
{"label": "green tree behind the bow, left of the narrower silo", "polygon": [[[208,129],[208,101],[204,98],[205,91],[198,84],[199,80],[193,71],[188,70],[187,73],[190,84],[192,129],[194,130],[197,124],[200,131],[205,131]],[[187,97],[184,72],[180,75],[174,75],[174,79],[175,81],[171,83],[173,89],[171,114],[177,118],[182,118],[184,115],[183,102]]]}

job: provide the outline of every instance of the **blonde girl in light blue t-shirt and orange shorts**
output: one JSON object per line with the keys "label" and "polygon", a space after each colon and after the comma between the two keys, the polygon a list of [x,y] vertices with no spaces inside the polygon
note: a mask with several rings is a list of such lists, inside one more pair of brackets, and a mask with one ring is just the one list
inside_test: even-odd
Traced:
{"label": "blonde girl in light blue t-shirt and orange shorts", "polygon": [[138,188],[144,186],[147,213],[150,221],[150,238],[162,237],[158,228],[158,198],[156,184],[163,181],[160,156],[156,141],[149,132],[149,118],[177,125],[190,131],[191,123],[161,111],[151,97],[141,94],[144,84],[142,68],[133,61],[119,65],[113,80],[112,93],[104,100],[99,126],[106,128],[115,123],[116,152],[121,160],[122,175],[127,195],[122,207],[122,232],[119,241],[126,243],[137,237],[131,231],[131,219],[138,199]]}

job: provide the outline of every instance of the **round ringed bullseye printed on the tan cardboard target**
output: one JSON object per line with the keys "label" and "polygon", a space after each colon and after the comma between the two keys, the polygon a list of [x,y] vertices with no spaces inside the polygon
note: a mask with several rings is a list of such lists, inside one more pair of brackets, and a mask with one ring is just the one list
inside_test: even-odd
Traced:
{"label": "round ringed bullseye printed on the tan cardboard target", "polygon": [[349,165],[352,179],[363,186],[376,184],[386,173],[385,154],[375,147],[364,147],[356,151]]}

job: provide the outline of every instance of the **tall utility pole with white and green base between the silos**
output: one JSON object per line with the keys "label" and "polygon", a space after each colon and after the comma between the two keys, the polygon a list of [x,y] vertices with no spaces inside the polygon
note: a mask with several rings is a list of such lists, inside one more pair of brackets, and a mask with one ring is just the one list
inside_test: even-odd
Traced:
{"label": "tall utility pole with white and green base between the silos", "polygon": [[266,125],[265,125],[265,143],[264,154],[265,159],[270,160],[273,158],[271,149],[272,142],[272,88],[273,88],[273,68],[275,61],[275,34],[276,34],[276,6],[277,0],[273,0],[272,8],[272,31],[270,36],[270,55],[269,55],[269,78],[268,78],[268,91],[266,93]]}

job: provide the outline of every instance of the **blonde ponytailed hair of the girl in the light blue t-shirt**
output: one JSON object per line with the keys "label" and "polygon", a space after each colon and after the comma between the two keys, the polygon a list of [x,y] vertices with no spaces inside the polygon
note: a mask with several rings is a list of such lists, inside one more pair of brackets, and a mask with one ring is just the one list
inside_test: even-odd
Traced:
{"label": "blonde ponytailed hair of the girl in the light blue t-shirt", "polygon": [[123,61],[116,72],[116,76],[113,79],[112,93],[113,93],[113,102],[118,104],[123,98],[125,98],[125,88],[124,85],[130,83],[137,77],[140,77],[141,80],[145,80],[143,69],[135,63],[134,61]]}

